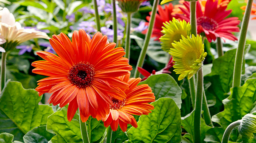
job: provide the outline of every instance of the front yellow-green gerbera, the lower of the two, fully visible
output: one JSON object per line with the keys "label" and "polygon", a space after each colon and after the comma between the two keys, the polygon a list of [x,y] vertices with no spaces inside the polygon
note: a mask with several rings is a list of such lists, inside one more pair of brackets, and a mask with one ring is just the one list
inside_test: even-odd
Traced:
{"label": "front yellow-green gerbera, the lower of the two, fully visible", "polygon": [[204,52],[204,44],[202,37],[192,34],[192,37],[183,35],[180,42],[174,41],[172,43],[173,49],[170,50],[169,54],[173,56],[175,68],[173,71],[176,74],[180,74],[178,80],[182,80],[187,76],[190,79],[197,71],[202,67],[203,61],[207,55]]}

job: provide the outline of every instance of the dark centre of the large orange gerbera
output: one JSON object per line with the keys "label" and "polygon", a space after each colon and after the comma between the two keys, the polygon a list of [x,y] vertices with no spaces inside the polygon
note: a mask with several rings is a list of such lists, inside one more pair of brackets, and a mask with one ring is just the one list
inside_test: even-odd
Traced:
{"label": "dark centre of the large orange gerbera", "polygon": [[86,87],[92,84],[95,72],[89,63],[77,63],[69,69],[68,79],[78,87]]}

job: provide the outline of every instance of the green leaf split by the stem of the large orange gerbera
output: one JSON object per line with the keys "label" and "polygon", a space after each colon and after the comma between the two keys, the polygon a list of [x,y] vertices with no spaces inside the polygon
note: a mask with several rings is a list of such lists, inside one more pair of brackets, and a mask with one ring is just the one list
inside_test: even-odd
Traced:
{"label": "green leaf split by the stem of the large orange gerbera", "polygon": [[[87,131],[91,143],[100,140],[106,130],[101,121],[89,117]],[[61,111],[57,111],[50,115],[47,120],[46,130],[56,134],[49,143],[82,143],[82,135],[80,130],[78,112],[75,114],[71,122],[67,119],[67,108],[63,107]]]}

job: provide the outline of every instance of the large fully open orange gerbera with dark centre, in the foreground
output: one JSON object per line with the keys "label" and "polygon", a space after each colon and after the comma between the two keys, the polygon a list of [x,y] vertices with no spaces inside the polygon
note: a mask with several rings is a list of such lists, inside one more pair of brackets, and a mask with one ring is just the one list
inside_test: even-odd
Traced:
{"label": "large fully open orange gerbera with dark centre, in the foreground", "polygon": [[[33,73],[50,76],[39,80],[36,91],[39,96],[52,93],[48,102],[64,107],[69,103],[68,120],[79,108],[85,122],[90,115],[101,119],[109,114],[112,97],[122,101],[128,84],[118,76],[132,70],[122,47],[109,43],[107,36],[97,32],[92,39],[83,29],[74,31],[72,42],[64,33],[53,35],[50,44],[55,54],[40,51],[37,54],[46,61],[36,61]],[[115,48],[115,49],[114,49]],[[96,116],[96,112],[98,113]]]}

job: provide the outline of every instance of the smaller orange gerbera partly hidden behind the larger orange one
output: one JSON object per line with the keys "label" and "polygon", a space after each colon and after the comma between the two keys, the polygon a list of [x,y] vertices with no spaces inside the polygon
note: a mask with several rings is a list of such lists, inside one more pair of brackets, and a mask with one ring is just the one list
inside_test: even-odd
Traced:
{"label": "smaller orange gerbera partly hidden behind the larger orange one", "polygon": [[[129,89],[122,89],[126,98],[121,101],[111,97],[113,105],[110,106],[110,113],[103,118],[104,126],[110,125],[113,131],[116,131],[118,124],[123,132],[127,130],[127,124],[137,128],[137,122],[133,115],[148,115],[154,106],[147,102],[154,102],[155,96],[147,84],[138,85],[141,78],[130,78],[130,74],[119,77],[129,84]],[[138,86],[137,86],[138,85]]]}

